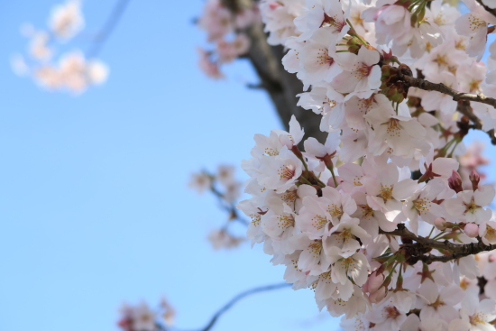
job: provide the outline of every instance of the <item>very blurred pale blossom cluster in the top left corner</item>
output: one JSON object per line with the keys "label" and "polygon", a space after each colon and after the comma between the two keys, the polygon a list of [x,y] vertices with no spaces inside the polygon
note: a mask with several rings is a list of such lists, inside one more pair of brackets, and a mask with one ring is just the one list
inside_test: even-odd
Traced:
{"label": "very blurred pale blossom cluster in the top left corner", "polygon": [[12,59],[14,72],[32,76],[41,87],[76,94],[91,85],[104,83],[108,76],[106,64],[86,59],[81,51],[68,51],[61,54],[59,60],[54,60],[56,47],[76,36],[84,23],[80,2],[70,0],[52,10],[47,31],[24,25],[23,34],[30,38],[29,61],[22,55],[15,55]]}

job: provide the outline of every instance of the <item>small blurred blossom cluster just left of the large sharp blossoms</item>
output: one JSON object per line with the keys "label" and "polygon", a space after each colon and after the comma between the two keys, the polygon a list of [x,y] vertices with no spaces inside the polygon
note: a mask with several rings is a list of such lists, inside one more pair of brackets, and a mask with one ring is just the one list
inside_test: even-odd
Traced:
{"label": "small blurred blossom cluster just left of the large sharp blossoms", "polygon": [[208,190],[218,199],[219,206],[228,214],[227,222],[222,228],[214,229],[208,234],[207,239],[214,249],[230,249],[243,243],[245,237],[237,236],[229,231],[230,225],[237,221],[246,225],[247,222],[238,215],[235,204],[241,196],[243,183],[234,178],[234,167],[221,164],[216,173],[201,171],[191,174],[189,188],[196,189],[199,194]]}

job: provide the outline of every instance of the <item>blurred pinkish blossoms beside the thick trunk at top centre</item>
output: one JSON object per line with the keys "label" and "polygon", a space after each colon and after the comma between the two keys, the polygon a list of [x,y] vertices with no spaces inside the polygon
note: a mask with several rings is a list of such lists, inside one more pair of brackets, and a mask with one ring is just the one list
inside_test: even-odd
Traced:
{"label": "blurred pinkish blossoms beside the thick trunk at top centre", "polygon": [[234,12],[226,8],[221,0],[208,0],[198,19],[198,26],[207,31],[207,41],[214,43],[214,49],[198,49],[200,69],[210,78],[223,78],[219,66],[246,54],[250,49],[250,39],[244,31],[259,21],[257,6]]}

